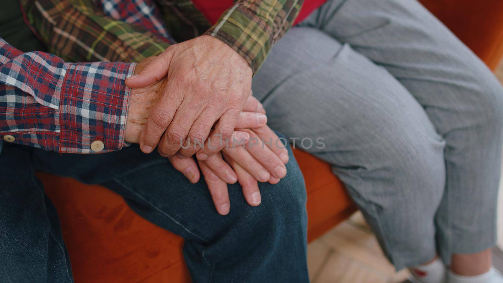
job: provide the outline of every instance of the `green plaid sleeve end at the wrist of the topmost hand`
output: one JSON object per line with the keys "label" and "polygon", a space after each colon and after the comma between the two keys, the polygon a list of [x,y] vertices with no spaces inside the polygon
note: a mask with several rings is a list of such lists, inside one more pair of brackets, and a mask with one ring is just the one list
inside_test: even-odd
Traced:
{"label": "green plaid sleeve end at the wrist of the topmost hand", "polygon": [[225,42],[254,74],[273,44],[292,26],[303,0],[238,0],[205,34]]}

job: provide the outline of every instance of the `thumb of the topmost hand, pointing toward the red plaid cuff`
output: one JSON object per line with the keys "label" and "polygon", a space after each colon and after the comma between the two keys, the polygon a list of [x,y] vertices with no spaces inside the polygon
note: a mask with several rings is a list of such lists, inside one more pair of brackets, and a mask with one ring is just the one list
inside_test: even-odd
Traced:
{"label": "thumb of the topmost hand, pointing toward the red plaid cuff", "polygon": [[144,88],[162,80],[162,78],[167,75],[167,70],[170,68],[172,58],[172,48],[167,48],[157,55],[157,57],[150,59],[138,74],[127,78],[125,82],[126,86],[133,89]]}

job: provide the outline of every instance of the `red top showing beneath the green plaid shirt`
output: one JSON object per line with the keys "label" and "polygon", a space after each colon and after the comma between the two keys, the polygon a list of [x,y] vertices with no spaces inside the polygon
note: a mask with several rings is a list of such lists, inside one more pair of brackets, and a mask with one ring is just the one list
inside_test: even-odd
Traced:
{"label": "red top showing beneath the green plaid shirt", "polygon": [[[327,0],[305,0],[299,16],[295,19],[293,25],[296,25],[307,18],[309,14],[318,9],[326,1]],[[196,8],[201,11],[204,16],[206,16],[211,24],[216,23],[222,13],[229,9],[233,4],[232,0],[192,0],[192,2]]]}

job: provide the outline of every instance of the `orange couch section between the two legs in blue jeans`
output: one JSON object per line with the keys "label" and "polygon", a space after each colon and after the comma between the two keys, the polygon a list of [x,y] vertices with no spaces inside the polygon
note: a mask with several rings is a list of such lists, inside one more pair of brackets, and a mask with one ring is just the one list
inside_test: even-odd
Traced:
{"label": "orange couch section between the two legs in blue jeans", "polygon": [[181,237],[104,187],[39,177],[58,211],[75,282],[190,282]]}

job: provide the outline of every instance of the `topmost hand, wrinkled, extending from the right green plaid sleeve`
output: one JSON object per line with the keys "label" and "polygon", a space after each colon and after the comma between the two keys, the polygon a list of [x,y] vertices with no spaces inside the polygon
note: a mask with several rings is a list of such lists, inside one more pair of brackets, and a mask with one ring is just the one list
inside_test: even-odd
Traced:
{"label": "topmost hand, wrinkled, extending from the right green plaid sleeve", "polygon": [[[162,80],[160,96],[149,113],[140,148],[161,156],[176,154],[186,138],[199,143],[212,126],[211,148],[198,154],[205,159],[219,152],[231,137],[251,89],[253,72],[236,51],[211,36],[200,36],[170,46],[126,80],[131,88],[144,88]],[[197,144],[197,143],[196,143]],[[199,148],[181,151],[184,157]]]}

